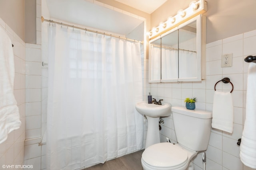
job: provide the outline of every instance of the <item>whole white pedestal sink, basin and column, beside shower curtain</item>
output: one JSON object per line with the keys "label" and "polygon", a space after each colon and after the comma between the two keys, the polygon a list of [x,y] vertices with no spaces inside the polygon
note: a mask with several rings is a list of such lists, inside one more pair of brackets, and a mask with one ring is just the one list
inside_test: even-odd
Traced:
{"label": "whole white pedestal sink, basin and column, beside shower curtain", "polygon": [[162,105],[148,104],[148,102],[138,102],[135,106],[136,110],[148,119],[148,132],[146,138],[146,146],[160,143],[159,135],[159,117],[171,115],[171,104],[162,102]]}

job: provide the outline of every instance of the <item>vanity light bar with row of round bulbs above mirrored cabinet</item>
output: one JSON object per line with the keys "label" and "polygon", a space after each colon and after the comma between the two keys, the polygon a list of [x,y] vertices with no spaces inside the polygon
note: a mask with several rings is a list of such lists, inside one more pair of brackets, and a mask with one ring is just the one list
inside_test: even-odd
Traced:
{"label": "vanity light bar with row of round bulbs above mirrored cabinet", "polygon": [[158,27],[152,28],[152,30],[148,33],[148,39],[153,39],[166,33],[167,31],[177,27],[178,25],[203,14],[207,11],[207,2],[205,0],[198,0],[190,2],[188,8],[185,10],[179,10],[176,16],[168,17],[168,20],[165,22],[161,22]]}

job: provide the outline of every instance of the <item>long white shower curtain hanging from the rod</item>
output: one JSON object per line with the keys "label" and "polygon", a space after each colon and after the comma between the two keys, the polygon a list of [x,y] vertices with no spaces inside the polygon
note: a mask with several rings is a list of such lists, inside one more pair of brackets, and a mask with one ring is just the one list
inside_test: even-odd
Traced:
{"label": "long white shower curtain hanging from the rod", "polygon": [[[48,24],[49,25],[49,24]],[[49,170],[104,163],[143,148],[140,44],[48,26]]]}

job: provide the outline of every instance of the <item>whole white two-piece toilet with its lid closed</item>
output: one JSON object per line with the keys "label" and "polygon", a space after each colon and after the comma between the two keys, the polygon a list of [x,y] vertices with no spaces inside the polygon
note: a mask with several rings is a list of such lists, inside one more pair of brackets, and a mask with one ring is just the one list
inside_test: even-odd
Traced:
{"label": "whole white two-piece toilet with its lid closed", "polygon": [[194,170],[192,158],[208,147],[212,113],[199,109],[172,107],[178,144],[157,143],[142,153],[144,170]]}

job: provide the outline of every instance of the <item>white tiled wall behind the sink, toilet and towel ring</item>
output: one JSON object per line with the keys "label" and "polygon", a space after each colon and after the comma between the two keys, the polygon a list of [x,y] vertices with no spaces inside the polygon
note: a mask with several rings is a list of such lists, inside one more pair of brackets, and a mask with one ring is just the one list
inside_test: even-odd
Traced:
{"label": "white tiled wall behind the sink, toilet and towel ring", "polygon": [[[144,86],[145,100],[146,95],[151,91],[152,96],[157,100],[164,99],[164,102],[170,102],[172,106],[185,106],[184,99],[195,96],[198,98],[196,108],[212,111],[215,83],[224,77],[230,78],[230,81],[234,84],[234,91],[232,92],[234,132],[230,134],[212,129],[206,151],[207,170],[252,170],[240,161],[240,148],[236,143],[242,137],[245,119],[249,63],[244,62],[244,58],[248,55],[256,55],[255,42],[256,30],[208,43],[206,45],[206,80],[202,80],[202,82],[154,83],[150,85],[150,88]],[[221,56],[229,53],[232,53],[232,67],[222,68],[220,64]],[[144,70],[144,72],[148,72],[148,70]],[[147,79],[145,78],[145,80]],[[228,92],[232,89],[232,86],[218,83],[216,89]],[[172,115],[163,119],[164,124],[161,124],[160,141],[166,142],[166,137],[168,137],[172,143],[177,143]],[[146,139],[145,136],[144,139]],[[202,170],[201,153],[194,158],[193,162],[195,170]]]}

